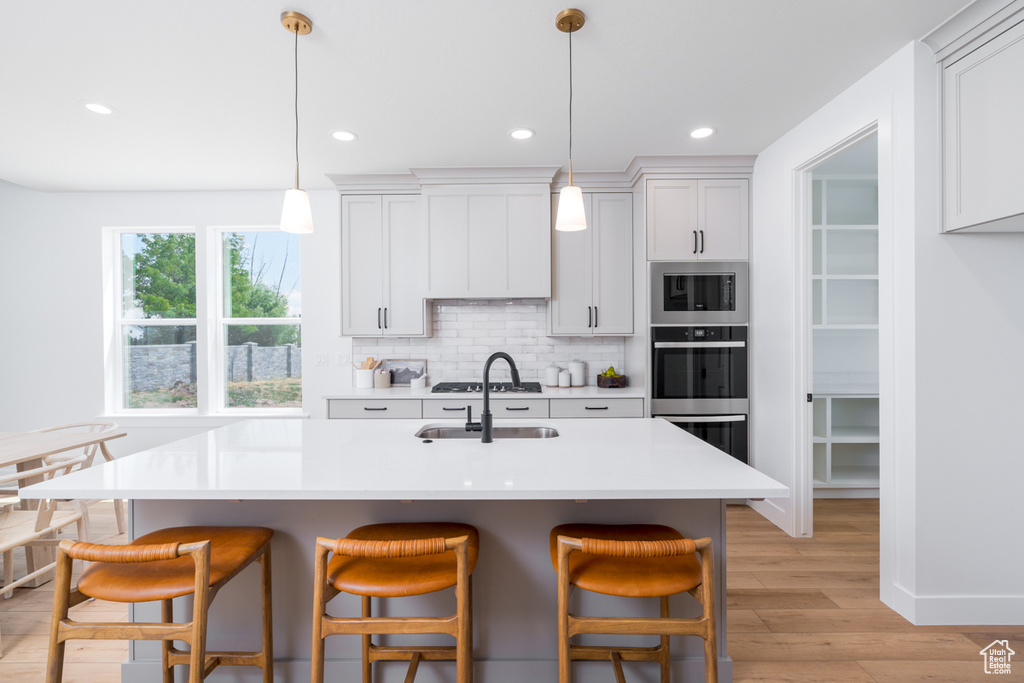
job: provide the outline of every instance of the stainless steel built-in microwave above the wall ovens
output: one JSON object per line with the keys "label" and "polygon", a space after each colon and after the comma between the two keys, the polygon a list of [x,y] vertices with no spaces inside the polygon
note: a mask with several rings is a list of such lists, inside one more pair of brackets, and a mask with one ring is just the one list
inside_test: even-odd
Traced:
{"label": "stainless steel built-in microwave above the wall ovens", "polygon": [[653,261],[651,325],[746,325],[746,261]]}

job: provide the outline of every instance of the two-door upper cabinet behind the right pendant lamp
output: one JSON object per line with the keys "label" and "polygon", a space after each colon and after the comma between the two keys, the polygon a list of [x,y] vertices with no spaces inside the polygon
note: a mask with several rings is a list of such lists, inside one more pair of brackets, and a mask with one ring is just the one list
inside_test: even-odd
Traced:
{"label": "two-door upper cabinet behind the right pendant lamp", "polygon": [[[553,200],[556,205],[557,196]],[[553,336],[633,334],[633,196],[585,193],[587,229],[552,230]]]}

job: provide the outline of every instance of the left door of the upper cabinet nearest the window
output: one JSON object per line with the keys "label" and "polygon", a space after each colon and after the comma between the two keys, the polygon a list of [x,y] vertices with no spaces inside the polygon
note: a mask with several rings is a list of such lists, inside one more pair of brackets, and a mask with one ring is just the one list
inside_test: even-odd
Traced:
{"label": "left door of the upper cabinet nearest the window", "polygon": [[341,334],[383,333],[384,254],[381,198],[341,198]]}

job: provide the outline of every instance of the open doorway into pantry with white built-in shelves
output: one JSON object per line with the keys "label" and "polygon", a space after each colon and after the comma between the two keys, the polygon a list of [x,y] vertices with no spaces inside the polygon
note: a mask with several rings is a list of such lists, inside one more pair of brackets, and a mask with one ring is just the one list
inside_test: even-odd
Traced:
{"label": "open doorway into pantry with white built-in shelves", "polygon": [[798,175],[807,402],[798,432],[804,478],[797,527],[811,536],[815,499],[880,498],[880,285],[888,283],[880,268],[877,128],[827,150]]}

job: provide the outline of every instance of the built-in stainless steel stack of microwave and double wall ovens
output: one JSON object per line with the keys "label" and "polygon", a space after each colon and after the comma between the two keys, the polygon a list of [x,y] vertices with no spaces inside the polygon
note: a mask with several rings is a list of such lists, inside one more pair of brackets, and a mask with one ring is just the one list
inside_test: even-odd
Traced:
{"label": "built-in stainless steel stack of microwave and double wall ovens", "polygon": [[745,463],[746,263],[650,268],[651,415]]}

